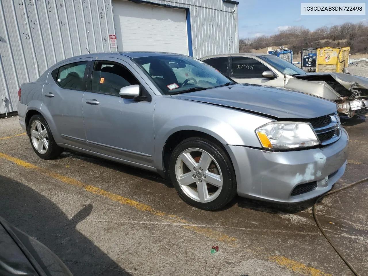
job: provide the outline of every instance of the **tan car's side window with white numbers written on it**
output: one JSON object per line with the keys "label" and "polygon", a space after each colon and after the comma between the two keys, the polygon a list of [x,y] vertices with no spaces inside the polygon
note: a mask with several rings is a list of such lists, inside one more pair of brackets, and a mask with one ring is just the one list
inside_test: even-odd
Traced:
{"label": "tan car's side window with white numbers written on it", "polygon": [[232,60],[233,78],[262,79],[262,72],[270,70],[267,66],[251,57],[233,57]]}

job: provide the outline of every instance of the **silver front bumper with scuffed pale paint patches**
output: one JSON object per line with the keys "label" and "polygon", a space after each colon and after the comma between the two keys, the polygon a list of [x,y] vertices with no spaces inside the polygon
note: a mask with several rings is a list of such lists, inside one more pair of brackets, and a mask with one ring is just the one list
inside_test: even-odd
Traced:
{"label": "silver front bumper with scuffed pale paint patches", "polygon": [[[329,191],[344,174],[347,132],[335,143],[301,151],[270,152],[224,145],[234,165],[238,195],[263,201],[297,203]],[[317,188],[291,196],[299,184],[316,181]]]}

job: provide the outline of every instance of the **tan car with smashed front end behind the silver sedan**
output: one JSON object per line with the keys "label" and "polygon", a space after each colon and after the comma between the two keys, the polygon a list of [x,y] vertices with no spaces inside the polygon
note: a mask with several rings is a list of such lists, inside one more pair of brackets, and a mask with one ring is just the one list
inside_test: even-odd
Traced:
{"label": "tan car with smashed front end behind the silver sedan", "polygon": [[343,73],[307,73],[277,56],[234,53],[203,57],[238,83],[287,88],[332,100],[340,115],[368,113],[368,78]]}

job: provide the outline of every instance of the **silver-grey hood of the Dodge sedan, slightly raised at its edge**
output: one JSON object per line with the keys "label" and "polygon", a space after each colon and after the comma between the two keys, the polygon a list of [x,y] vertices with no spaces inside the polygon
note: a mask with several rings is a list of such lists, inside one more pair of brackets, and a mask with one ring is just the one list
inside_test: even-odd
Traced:
{"label": "silver-grey hood of the Dodge sedan, slightly raised at its edge", "polygon": [[282,88],[237,84],[172,95],[174,98],[241,109],[275,118],[315,118],[333,113],[329,100]]}

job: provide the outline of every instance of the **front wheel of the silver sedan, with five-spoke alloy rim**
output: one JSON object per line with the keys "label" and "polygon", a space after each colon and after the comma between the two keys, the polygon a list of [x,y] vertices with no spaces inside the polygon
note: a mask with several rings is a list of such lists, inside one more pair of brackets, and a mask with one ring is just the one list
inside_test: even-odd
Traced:
{"label": "front wheel of the silver sedan, with five-spoke alloy rim", "polygon": [[170,156],[169,173],[178,195],[199,209],[223,208],[237,192],[229,156],[208,139],[191,137],[180,142]]}

